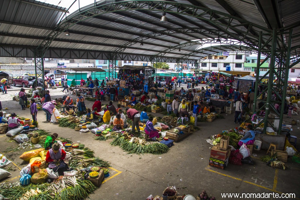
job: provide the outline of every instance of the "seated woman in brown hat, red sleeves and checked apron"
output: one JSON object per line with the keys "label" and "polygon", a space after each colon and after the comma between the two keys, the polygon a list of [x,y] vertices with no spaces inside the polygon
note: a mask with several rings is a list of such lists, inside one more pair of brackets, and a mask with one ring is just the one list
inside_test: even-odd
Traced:
{"label": "seated woman in brown hat, red sleeves and checked apron", "polygon": [[68,165],[64,162],[65,157],[66,152],[61,149],[57,142],[52,144],[52,149],[46,154],[46,162],[49,163],[48,167],[54,173],[58,172],[59,176],[63,176],[65,171],[70,171]]}

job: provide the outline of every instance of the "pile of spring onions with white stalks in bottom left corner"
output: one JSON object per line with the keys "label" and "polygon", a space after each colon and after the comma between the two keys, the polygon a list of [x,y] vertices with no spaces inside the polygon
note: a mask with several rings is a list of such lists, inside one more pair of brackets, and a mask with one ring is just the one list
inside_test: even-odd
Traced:
{"label": "pile of spring onions with white stalks in bottom left corner", "polygon": [[16,182],[0,186],[1,194],[10,200],[79,200],[88,198],[88,195],[96,189],[97,187],[90,181],[77,179],[74,176],[60,176],[53,183],[21,186],[20,182]]}

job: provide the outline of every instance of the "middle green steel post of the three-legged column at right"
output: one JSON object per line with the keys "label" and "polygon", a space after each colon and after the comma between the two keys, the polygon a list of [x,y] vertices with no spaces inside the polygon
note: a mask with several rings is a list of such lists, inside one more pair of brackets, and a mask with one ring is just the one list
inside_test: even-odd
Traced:
{"label": "middle green steel post of the three-legged column at right", "polygon": [[270,69],[269,69],[269,80],[268,83],[268,95],[266,99],[266,105],[265,105],[265,119],[264,119],[264,127],[263,127],[263,133],[266,133],[267,127],[268,127],[268,115],[270,114],[270,101],[271,101],[271,96],[272,96],[272,85],[273,85],[273,69],[275,66],[275,49],[276,49],[276,40],[277,35],[276,35],[276,30],[273,29],[272,33],[272,47],[271,47],[271,62],[270,62]]}

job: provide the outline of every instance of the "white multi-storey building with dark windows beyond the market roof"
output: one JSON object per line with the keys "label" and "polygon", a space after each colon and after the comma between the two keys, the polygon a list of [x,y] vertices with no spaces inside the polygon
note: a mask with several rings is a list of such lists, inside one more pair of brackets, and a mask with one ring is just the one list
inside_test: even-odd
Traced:
{"label": "white multi-storey building with dark windows beyond the market roof", "polygon": [[[200,63],[200,72],[225,71],[226,65],[230,65],[230,71],[244,71],[245,53],[218,53],[208,56]],[[251,71],[251,69],[249,70]]]}

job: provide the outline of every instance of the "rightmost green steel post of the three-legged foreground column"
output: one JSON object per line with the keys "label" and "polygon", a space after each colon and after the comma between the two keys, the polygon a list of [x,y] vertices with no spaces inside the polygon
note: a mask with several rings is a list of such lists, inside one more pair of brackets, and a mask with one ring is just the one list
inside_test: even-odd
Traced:
{"label": "rightmost green steel post of the three-legged foreground column", "polygon": [[281,109],[280,109],[280,116],[279,116],[279,127],[278,127],[278,133],[281,133],[281,124],[283,121],[283,113],[284,113],[284,102],[286,99],[286,87],[288,83],[289,78],[289,59],[291,57],[291,43],[292,43],[292,29],[289,30],[289,41],[287,44],[287,51],[286,51],[286,60],[285,60],[285,74],[284,74],[284,84],[283,84],[283,92],[282,92],[282,101],[281,101]]}

